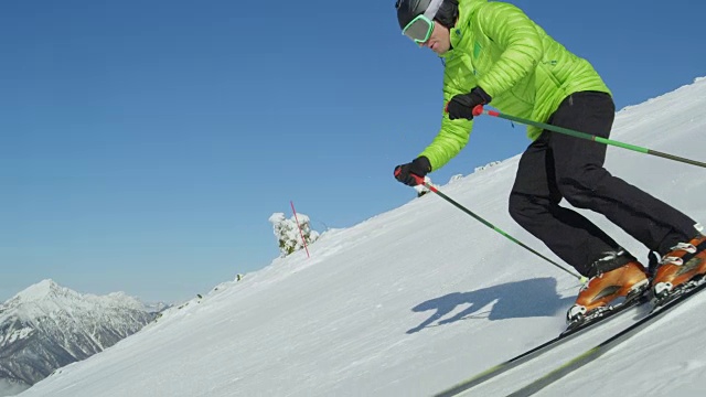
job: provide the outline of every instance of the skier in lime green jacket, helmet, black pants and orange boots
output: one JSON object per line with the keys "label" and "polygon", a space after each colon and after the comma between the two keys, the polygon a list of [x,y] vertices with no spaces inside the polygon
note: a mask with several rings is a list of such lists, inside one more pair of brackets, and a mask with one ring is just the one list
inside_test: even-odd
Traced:
{"label": "skier in lime green jacket, helmet, black pants and orange boots", "polygon": [[[611,92],[591,64],[567,51],[522,10],[486,0],[397,0],[403,34],[445,61],[445,115],[434,141],[395,178],[416,185],[468,143],[472,109],[499,110],[608,138],[614,118]],[[510,193],[510,214],[553,253],[589,278],[567,313],[574,321],[649,288],[645,267],[589,219],[567,207],[605,215],[656,251],[653,292],[706,273],[706,237],[694,219],[613,176],[603,168],[606,146],[528,128]],[[694,260],[692,260],[694,258]]]}

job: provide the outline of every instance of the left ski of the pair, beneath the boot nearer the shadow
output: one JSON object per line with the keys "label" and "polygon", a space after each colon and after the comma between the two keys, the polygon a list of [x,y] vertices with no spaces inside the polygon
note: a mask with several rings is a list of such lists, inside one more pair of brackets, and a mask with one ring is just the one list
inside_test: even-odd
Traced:
{"label": "left ski of the pair, beneath the boot nearer the shadow", "polygon": [[542,354],[550,351],[554,347],[559,346],[560,344],[563,344],[564,342],[568,342],[571,339],[574,339],[574,336],[579,335],[580,333],[582,333],[584,331],[592,328],[596,324],[602,323],[608,319],[612,319],[616,315],[620,314],[620,313],[624,313],[627,311],[627,309],[629,308],[633,308],[643,303],[646,303],[649,301],[648,299],[648,294],[642,294],[640,297],[635,297],[632,300],[629,301],[624,301],[622,303],[618,303],[613,307],[610,307],[609,309],[601,311],[600,315],[596,316],[596,315],[591,315],[589,318],[587,318],[586,321],[581,322],[580,324],[574,324],[569,328],[567,328],[566,331],[561,332],[561,334],[559,334],[558,336],[556,336],[553,340],[549,340],[532,350],[528,350],[524,353],[521,353],[520,355],[510,358],[503,363],[500,363],[491,368],[488,368],[485,371],[483,371],[482,373],[474,375],[471,378],[468,378],[443,391],[440,391],[438,394],[435,395],[435,397],[449,397],[449,396],[456,396],[462,391],[466,391],[472,387],[475,387],[495,376],[499,376],[523,363],[526,363],[533,358],[536,358],[538,356],[541,356]]}

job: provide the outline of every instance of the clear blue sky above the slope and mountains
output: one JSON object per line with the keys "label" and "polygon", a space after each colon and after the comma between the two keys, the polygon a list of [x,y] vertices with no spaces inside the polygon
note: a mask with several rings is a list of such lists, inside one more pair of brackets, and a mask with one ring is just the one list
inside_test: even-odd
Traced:
{"label": "clear blue sky above the slope and mountains", "polygon": [[[513,3],[618,108],[706,75],[702,2]],[[3,1],[0,54],[0,300],[52,278],[179,301],[259,269],[290,201],[322,232],[414,197],[392,170],[442,106],[442,65],[400,35],[394,0]],[[526,144],[480,119],[430,176]]]}

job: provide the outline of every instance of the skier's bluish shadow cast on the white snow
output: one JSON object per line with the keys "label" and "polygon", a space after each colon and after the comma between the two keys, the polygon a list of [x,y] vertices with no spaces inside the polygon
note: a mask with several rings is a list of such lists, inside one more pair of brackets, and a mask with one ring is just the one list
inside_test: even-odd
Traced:
{"label": "skier's bluish shadow cast on the white snow", "polygon": [[[578,292],[578,291],[577,291]],[[516,282],[483,288],[471,292],[453,292],[419,303],[411,309],[415,312],[436,310],[430,318],[421,324],[407,331],[413,334],[430,326],[435,321],[442,319],[459,305],[467,305],[457,314],[438,321],[438,325],[449,324],[456,321],[485,314],[488,320],[505,320],[531,316],[555,316],[561,308],[568,307],[576,297],[561,298],[556,291],[556,279],[536,278]],[[490,312],[479,313],[479,310],[495,301]],[[434,326],[434,325],[431,325]]]}

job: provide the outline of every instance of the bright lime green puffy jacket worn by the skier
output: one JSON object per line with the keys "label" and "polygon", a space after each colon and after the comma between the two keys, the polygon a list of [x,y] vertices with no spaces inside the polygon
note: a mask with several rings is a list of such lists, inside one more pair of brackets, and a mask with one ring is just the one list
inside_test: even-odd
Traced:
{"label": "bright lime green puffy jacket worn by the skier", "polygon": [[[561,100],[577,92],[610,90],[588,61],[552,39],[522,10],[504,2],[459,0],[459,20],[450,31],[452,50],[443,72],[443,104],[480,86],[502,112],[546,122]],[[468,143],[473,121],[450,120],[419,155],[432,170],[443,167]],[[536,139],[542,131],[530,127]]]}

